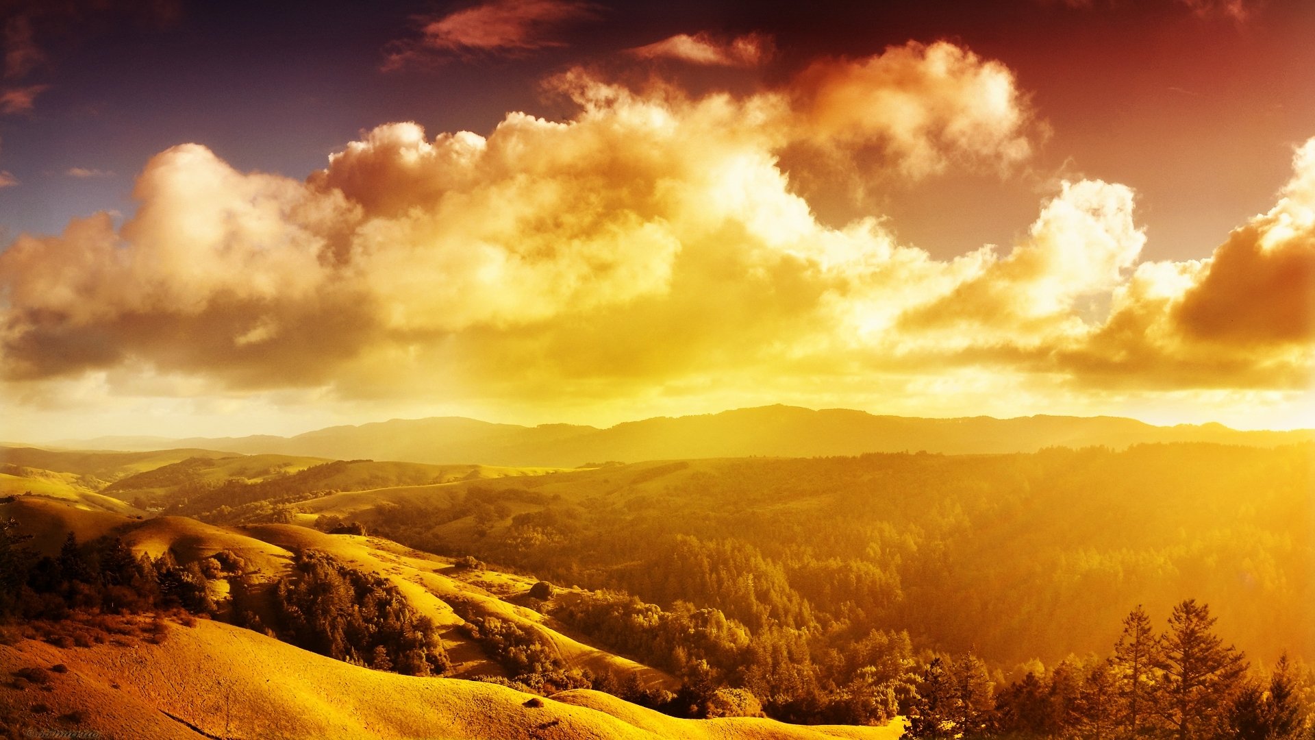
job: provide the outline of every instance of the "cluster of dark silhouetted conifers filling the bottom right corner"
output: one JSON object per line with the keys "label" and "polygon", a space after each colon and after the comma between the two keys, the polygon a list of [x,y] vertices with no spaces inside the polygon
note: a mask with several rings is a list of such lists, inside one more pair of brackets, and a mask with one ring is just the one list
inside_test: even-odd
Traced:
{"label": "cluster of dark silhouetted conifers filling the bottom right corner", "polygon": [[[1194,599],[1178,603],[1156,633],[1137,607],[1106,658],[1065,660],[995,691],[969,654],[936,657],[909,702],[909,736],[1072,740],[1306,740],[1315,727],[1297,693],[1302,678],[1283,657],[1268,679],[1248,673],[1241,652],[1214,632]],[[1306,716],[1303,716],[1306,715]]]}

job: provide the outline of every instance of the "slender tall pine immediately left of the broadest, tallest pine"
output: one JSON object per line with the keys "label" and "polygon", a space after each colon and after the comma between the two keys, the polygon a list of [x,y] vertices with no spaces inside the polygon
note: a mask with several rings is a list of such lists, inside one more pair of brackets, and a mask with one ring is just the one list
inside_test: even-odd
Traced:
{"label": "slender tall pine immediately left of the broadest, tallest pine", "polygon": [[1120,737],[1141,737],[1153,729],[1159,711],[1159,665],[1161,645],[1141,604],[1123,619],[1123,633],[1114,645],[1110,669],[1118,698],[1116,728]]}

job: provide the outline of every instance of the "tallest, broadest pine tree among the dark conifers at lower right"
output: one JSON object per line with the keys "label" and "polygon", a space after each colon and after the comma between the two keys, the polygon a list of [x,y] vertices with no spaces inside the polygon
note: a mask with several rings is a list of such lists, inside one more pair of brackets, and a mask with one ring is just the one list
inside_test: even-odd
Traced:
{"label": "tallest, broadest pine tree among the dark conifers at lower right", "polygon": [[1224,724],[1223,712],[1247,670],[1243,654],[1211,632],[1214,624],[1210,607],[1195,599],[1173,607],[1169,618],[1160,658],[1161,714],[1178,740],[1205,737]]}

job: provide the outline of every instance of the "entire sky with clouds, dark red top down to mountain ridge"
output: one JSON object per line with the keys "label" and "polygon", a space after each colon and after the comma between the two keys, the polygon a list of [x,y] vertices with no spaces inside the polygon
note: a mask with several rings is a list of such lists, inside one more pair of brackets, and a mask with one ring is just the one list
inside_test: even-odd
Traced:
{"label": "entire sky with clouds, dark red top down to mountain ridge", "polygon": [[0,440],[1315,427],[1306,0],[0,0]]}

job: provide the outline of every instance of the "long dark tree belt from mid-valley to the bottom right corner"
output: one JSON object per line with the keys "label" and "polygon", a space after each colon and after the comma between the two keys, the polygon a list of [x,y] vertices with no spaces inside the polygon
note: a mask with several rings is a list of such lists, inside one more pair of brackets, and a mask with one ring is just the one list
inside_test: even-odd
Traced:
{"label": "long dark tree belt from mid-valley to the bottom right corner", "polygon": [[668,611],[615,591],[568,594],[551,614],[680,677],[681,691],[656,704],[679,716],[709,716],[718,691],[736,690],[790,722],[903,716],[914,739],[1315,739],[1311,672],[1286,656],[1268,677],[1249,670],[1194,599],[1173,608],[1161,633],[1139,606],[1107,657],[1069,657],[1013,682],[970,650],[915,649],[907,632],[873,629],[819,649],[823,640],[789,629],[753,635],[718,610]]}

